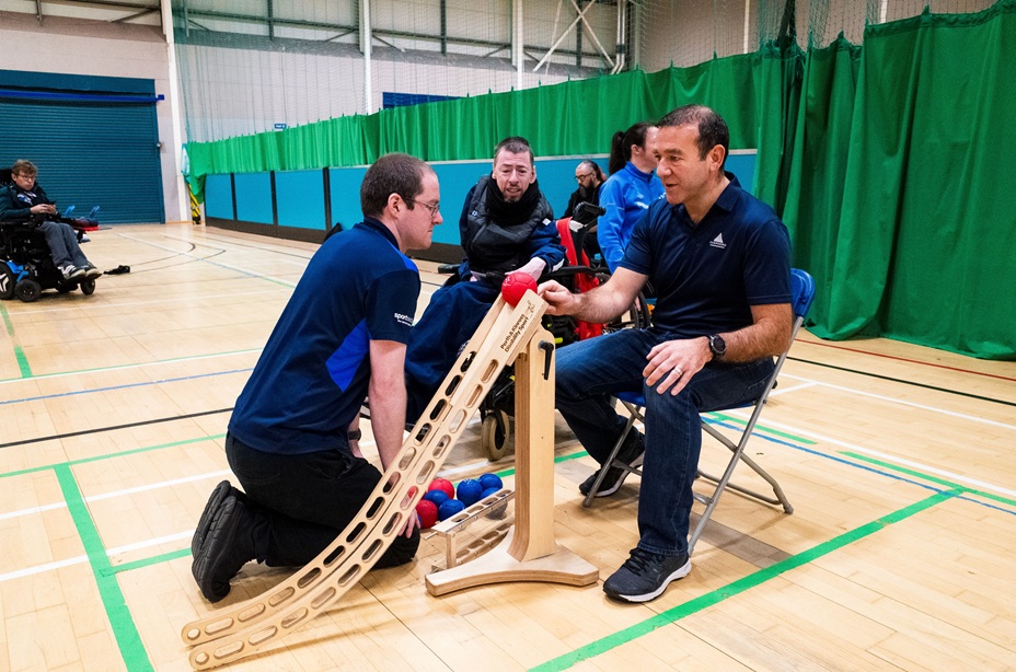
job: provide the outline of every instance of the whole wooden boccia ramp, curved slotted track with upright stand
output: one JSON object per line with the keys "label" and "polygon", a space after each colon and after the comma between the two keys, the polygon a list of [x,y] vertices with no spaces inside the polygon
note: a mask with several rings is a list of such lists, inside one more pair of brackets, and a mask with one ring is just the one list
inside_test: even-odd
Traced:
{"label": "whole wooden boccia ramp, curved slotted track with upright stand", "polygon": [[516,525],[478,559],[427,577],[439,595],[498,581],[587,586],[596,567],[561,547],[553,531],[554,340],[540,322],[546,303],[527,291],[498,297],[428,404],[368,502],[321,555],[279,586],[181,633],[190,664],[207,670],[278,641],[332,607],[384,554],[497,380],[516,363]]}

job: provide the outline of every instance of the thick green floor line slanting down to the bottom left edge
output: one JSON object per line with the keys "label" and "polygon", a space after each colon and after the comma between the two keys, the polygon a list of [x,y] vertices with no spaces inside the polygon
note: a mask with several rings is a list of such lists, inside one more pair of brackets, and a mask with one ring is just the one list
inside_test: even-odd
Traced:
{"label": "thick green floor line slanting down to the bottom left edge", "polygon": [[99,530],[95,528],[91,513],[89,513],[88,506],[84,503],[84,498],[81,496],[81,490],[78,488],[78,483],[74,480],[70,466],[58,465],[54,468],[54,472],[56,472],[60,488],[64,490],[64,499],[67,501],[67,508],[74,521],[74,526],[78,529],[78,535],[81,537],[84,551],[89,556],[89,565],[95,576],[99,595],[102,598],[124,663],[131,672],[154,670],[148,659],[145,645],[141,642],[141,635],[130,616],[130,610],[127,607],[120,586],[116,577],[108,572],[109,557],[106,555]]}

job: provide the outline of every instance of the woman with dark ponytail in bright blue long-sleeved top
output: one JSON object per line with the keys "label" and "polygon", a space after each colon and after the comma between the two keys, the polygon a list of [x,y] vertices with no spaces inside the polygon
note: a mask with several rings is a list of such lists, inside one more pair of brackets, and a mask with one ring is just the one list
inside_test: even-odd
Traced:
{"label": "woman with dark ponytail in bright blue long-sleeved top", "polygon": [[639,121],[611,140],[610,177],[600,189],[600,217],[597,239],[611,273],[624,258],[632,230],[653,201],[663,196],[663,184],[654,172],[657,128]]}

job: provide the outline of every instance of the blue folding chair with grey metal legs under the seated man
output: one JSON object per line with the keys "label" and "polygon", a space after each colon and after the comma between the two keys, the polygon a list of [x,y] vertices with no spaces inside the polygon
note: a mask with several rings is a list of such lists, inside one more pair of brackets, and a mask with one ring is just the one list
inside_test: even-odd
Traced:
{"label": "blue folding chair with grey metal legs under the seated man", "polygon": [[[805,316],[808,314],[808,309],[811,308],[811,301],[815,298],[815,281],[806,271],[797,268],[790,270],[790,308],[794,311],[794,329],[790,334],[790,343],[793,344],[794,339],[797,337],[797,332],[800,329],[800,325],[805,321]],[[716,508],[716,503],[719,501],[720,496],[728,487],[737,490],[738,493],[741,493],[742,495],[747,495],[760,501],[764,501],[765,503],[773,506],[781,505],[783,506],[783,510],[787,513],[794,512],[794,507],[790,506],[790,502],[783,494],[783,488],[780,487],[780,484],[776,482],[776,479],[773,478],[769,472],[763,470],[754,460],[744,454],[744,448],[748,445],[748,440],[751,438],[755,424],[759,421],[759,416],[762,414],[762,407],[765,405],[765,402],[769,398],[769,393],[776,384],[776,376],[780,375],[780,370],[783,368],[783,362],[786,360],[788,351],[789,347],[787,347],[787,350],[785,350],[776,360],[776,367],[773,369],[773,374],[766,382],[765,389],[762,391],[762,394],[759,396],[759,398],[755,399],[754,403],[743,406],[743,408],[751,408],[752,412],[751,417],[748,419],[748,424],[744,426],[744,429],[741,432],[737,443],[725,437],[711,424],[702,420],[702,429],[714,439],[726,445],[731,455],[730,461],[727,463],[727,468],[724,471],[723,476],[719,478],[711,476],[709,474],[704,473],[702,470],[698,470],[698,477],[716,484],[716,487],[713,489],[712,495],[701,495],[696,493],[694,496],[695,500],[705,505],[705,511],[698,519],[698,524],[695,525],[695,530],[689,536],[689,555],[692,554],[695,547],[695,543],[698,541],[698,537],[702,535],[702,531],[705,529],[705,524],[709,521],[709,517],[713,514],[713,509]],[[624,444],[624,439],[627,437],[628,432],[632,431],[635,422],[645,421],[644,408],[646,401],[640,392],[619,392],[615,397],[627,409],[628,420],[624,427],[624,431],[621,433],[621,438],[617,439],[617,442],[614,444],[614,448],[610,453],[610,457],[607,460],[607,464],[609,466],[622,468],[630,474],[636,474],[640,476],[642,468],[638,466],[630,466],[619,461],[617,453],[621,451],[621,447]],[[773,488],[774,496],[770,497],[769,495],[755,493],[754,490],[750,490],[737,484],[730,483],[730,476],[734,475],[734,470],[738,462],[743,462],[747,464],[749,467],[751,467],[752,471],[754,471],[766,483],[769,483]],[[596,497],[600,489],[600,485],[607,477],[608,471],[609,470],[607,468],[600,470],[600,476],[592,484],[592,487],[589,489],[589,494],[586,495],[586,499],[582,500],[584,507],[589,507],[589,505],[592,502],[592,499]]]}

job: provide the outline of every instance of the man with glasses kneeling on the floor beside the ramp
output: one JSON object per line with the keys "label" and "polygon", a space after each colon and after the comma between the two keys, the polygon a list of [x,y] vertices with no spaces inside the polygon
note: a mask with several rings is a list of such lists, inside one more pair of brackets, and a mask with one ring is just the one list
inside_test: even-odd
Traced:
{"label": "man with glasses kneeling on the floor beside the ramp", "polygon": [[[388,154],[363,176],[363,221],[314,254],[282,311],[226,437],[229,482],[212,491],[194,532],[192,573],[218,602],[250,560],[303,566],[357,517],[381,472],[360,453],[359,410],[370,395],[383,468],[402,448],[405,351],[420,281],[407,250],[430,246],[441,223],[438,177]],[[416,517],[374,567],[408,563]]]}

